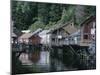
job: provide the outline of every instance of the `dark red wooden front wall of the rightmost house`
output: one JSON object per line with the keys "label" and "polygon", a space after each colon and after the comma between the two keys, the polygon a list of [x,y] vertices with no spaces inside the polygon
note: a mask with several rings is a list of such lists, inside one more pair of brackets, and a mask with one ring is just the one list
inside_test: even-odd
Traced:
{"label": "dark red wooden front wall of the rightmost house", "polygon": [[[87,46],[92,42],[93,34],[91,34],[91,30],[95,30],[96,20],[95,18],[90,18],[89,21],[86,21],[81,27],[81,45],[86,44]],[[95,37],[95,34],[94,34]]]}

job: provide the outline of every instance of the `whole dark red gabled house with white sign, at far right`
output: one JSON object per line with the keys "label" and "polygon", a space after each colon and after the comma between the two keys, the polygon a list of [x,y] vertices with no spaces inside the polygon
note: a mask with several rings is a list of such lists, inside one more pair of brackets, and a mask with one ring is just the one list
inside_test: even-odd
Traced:
{"label": "whole dark red gabled house with white sign, at far right", "polygon": [[89,46],[89,44],[96,38],[96,17],[88,17],[80,26],[80,46]]}

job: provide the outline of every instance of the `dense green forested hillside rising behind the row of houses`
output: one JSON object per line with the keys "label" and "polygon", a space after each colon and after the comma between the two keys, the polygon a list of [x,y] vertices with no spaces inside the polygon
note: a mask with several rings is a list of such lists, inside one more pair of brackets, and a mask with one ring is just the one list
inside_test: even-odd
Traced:
{"label": "dense green forested hillside rising behind the row of houses", "polygon": [[12,1],[12,20],[18,30],[50,29],[70,20],[79,25],[86,17],[95,14],[95,6]]}

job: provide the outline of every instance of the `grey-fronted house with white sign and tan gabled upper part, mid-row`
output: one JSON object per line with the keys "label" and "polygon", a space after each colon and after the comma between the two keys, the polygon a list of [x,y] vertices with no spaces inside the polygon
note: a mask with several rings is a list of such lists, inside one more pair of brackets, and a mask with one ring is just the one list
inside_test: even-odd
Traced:
{"label": "grey-fronted house with white sign and tan gabled upper part, mid-row", "polygon": [[68,36],[77,31],[73,22],[57,25],[51,29],[51,46],[68,45]]}

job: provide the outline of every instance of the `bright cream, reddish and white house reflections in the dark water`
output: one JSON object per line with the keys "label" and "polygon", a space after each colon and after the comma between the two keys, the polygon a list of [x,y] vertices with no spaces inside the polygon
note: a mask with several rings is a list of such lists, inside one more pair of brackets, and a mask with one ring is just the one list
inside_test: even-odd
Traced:
{"label": "bright cream, reddish and white house reflections in the dark water", "polygon": [[[22,65],[29,65],[33,70],[38,72],[49,71],[50,69],[50,52],[33,51],[32,53],[21,53],[19,60]],[[36,72],[37,72],[36,71]]]}

